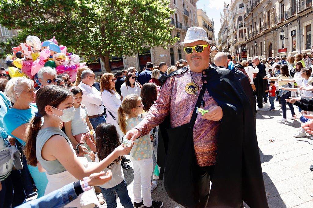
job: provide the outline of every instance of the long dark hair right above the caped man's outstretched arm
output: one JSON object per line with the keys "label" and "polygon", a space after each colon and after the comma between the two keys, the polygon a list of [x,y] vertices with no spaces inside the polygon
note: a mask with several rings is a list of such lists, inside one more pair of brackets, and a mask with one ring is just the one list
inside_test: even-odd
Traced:
{"label": "long dark hair right above the caped man's outstretched arm", "polygon": [[148,112],[157,99],[156,84],[146,83],[142,85],[140,97],[142,98],[143,109]]}

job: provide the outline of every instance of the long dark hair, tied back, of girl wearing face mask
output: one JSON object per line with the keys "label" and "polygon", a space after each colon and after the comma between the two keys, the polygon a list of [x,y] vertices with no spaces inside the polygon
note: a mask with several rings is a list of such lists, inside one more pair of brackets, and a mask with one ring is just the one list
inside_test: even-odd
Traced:
{"label": "long dark hair, tied back, of girl wearing face mask", "polygon": [[66,100],[68,97],[73,97],[73,94],[62,86],[47,85],[38,90],[36,94],[36,104],[38,113],[29,121],[28,135],[25,145],[25,155],[28,164],[37,166],[36,157],[36,138],[41,126],[41,117],[46,115],[45,107],[51,105],[58,108],[59,104]]}

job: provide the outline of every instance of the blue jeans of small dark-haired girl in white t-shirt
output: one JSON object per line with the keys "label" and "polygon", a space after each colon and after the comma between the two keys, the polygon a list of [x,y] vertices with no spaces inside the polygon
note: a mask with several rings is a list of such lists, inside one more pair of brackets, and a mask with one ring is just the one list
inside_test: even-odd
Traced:
{"label": "blue jeans of small dark-haired girl in white t-shirt", "polygon": [[116,208],[117,207],[115,191],[116,191],[118,197],[120,198],[120,202],[121,202],[123,207],[134,208],[133,204],[131,203],[131,198],[128,195],[125,179],[120,184],[118,184],[118,185],[116,185],[110,189],[105,189],[105,188],[101,188],[101,187],[100,187],[100,189],[101,189],[101,192],[103,194],[103,197],[105,198],[107,208]]}

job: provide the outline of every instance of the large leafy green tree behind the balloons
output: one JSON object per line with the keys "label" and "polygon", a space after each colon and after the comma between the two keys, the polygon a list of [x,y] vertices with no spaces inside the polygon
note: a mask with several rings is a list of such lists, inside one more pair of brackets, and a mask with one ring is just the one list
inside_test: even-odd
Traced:
{"label": "large leafy green tree behind the balloons", "polygon": [[107,71],[110,56],[131,56],[145,47],[174,43],[168,18],[175,10],[168,0],[2,0],[0,24],[19,29],[17,36],[0,41],[3,52],[25,42],[28,35],[41,41],[56,37],[69,52],[84,58],[100,57]]}

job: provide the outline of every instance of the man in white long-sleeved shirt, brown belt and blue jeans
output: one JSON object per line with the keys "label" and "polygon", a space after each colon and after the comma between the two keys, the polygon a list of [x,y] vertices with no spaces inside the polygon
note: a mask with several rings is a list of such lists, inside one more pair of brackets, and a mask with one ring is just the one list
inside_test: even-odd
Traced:
{"label": "man in white long-sleeved shirt, brown belt and blue jeans", "polygon": [[78,87],[83,91],[82,104],[86,105],[90,123],[94,129],[99,124],[105,122],[103,115],[104,107],[102,104],[101,93],[92,85],[94,84],[95,73],[86,69],[81,73],[81,82]]}

